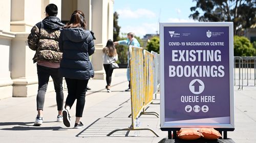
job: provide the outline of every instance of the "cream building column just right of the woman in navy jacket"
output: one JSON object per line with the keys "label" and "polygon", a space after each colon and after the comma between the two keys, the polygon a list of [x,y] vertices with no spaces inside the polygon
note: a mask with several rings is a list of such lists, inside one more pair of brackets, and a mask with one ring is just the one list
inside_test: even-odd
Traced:
{"label": "cream building column just right of the woman in navy jacket", "polygon": [[[113,19],[113,1],[94,0],[92,3],[92,31],[95,34],[95,53],[92,55],[92,63],[95,71],[95,79],[104,79],[104,70],[102,62],[102,49],[105,47],[108,39],[113,39],[112,31],[109,30]],[[112,16],[113,17],[113,16]],[[112,35],[110,34],[112,33]],[[110,37],[112,36],[112,37]]]}

